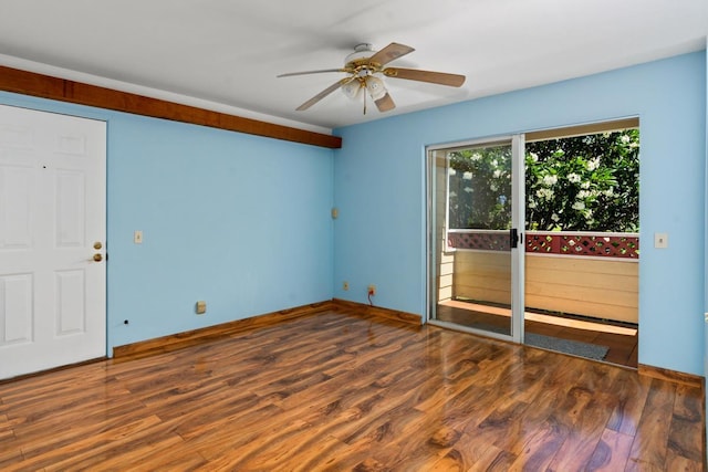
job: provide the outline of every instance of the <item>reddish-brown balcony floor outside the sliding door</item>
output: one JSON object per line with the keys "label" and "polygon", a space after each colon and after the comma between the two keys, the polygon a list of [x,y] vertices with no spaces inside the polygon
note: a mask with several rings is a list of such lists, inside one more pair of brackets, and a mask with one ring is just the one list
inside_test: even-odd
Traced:
{"label": "reddish-brown balcony floor outside the sliding door", "polygon": [[[466,302],[448,302],[437,307],[438,319],[462,326],[478,324],[498,326],[504,328],[508,334],[511,328],[511,319],[503,312],[509,312],[509,310],[485,307]],[[605,361],[633,368],[638,365],[638,333],[636,328],[527,313],[524,329],[527,333],[605,346],[607,347]]]}

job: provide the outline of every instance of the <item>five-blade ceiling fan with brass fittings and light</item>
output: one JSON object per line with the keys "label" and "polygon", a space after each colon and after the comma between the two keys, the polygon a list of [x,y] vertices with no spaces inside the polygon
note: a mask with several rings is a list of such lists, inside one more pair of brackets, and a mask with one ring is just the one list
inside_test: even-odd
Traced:
{"label": "five-blade ceiling fan with brass fittings and light", "polygon": [[[429,82],[433,84],[459,87],[465,83],[465,75],[447,74],[444,72],[420,71],[417,69],[386,67],[389,62],[412,53],[415,49],[405,44],[391,43],[381,51],[374,51],[371,44],[363,43],[354,48],[354,52],[344,60],[344,67],[325,69],[321,71],[291,72],[280,74],[279,77],[293,75],[321,74],[325,72],[345,72],[346,77],[336,81],[296,109],[299,112],[310,108],[332,92],[341,88],[350,98],[356,98],[362,90],[366,90],[379,112],[388,112],[396,107],[391,98],[384,81],[379,75],[392,78],[406,78],[409,81]],[[364,113],[366,113],[366,93],[364,93]]]}

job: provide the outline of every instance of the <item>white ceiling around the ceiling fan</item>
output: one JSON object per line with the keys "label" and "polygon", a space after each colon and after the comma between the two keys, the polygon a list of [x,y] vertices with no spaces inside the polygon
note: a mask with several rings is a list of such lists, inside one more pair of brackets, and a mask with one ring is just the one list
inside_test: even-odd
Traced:
{"label": "white ceiling around the ceiling fan", "polygon": [[[0,0],[0,64],[305,129],[524,88],[706,48],[708,0]],[[461,88],[386,78],[386,114],[339,91],[357,43]]]}

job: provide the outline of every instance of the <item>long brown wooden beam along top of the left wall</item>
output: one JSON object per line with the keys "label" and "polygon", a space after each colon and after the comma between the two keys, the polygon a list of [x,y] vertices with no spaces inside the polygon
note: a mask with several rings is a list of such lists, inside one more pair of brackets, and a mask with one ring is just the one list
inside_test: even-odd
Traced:
{"label": "long brown wooden beam along top of the left wall", "polygon": [[0,65],[0,90],[339,149],[342,138]]}

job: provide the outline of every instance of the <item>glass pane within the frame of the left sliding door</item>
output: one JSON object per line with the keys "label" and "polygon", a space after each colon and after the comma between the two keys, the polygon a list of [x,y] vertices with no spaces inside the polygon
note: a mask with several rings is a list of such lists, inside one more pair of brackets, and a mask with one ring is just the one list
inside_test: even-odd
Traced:
{"label": "glass pane within the frame of the left sliding door", "polygon": [[441,149],[431,159],[431,313],[511,335],[511,144]]}

